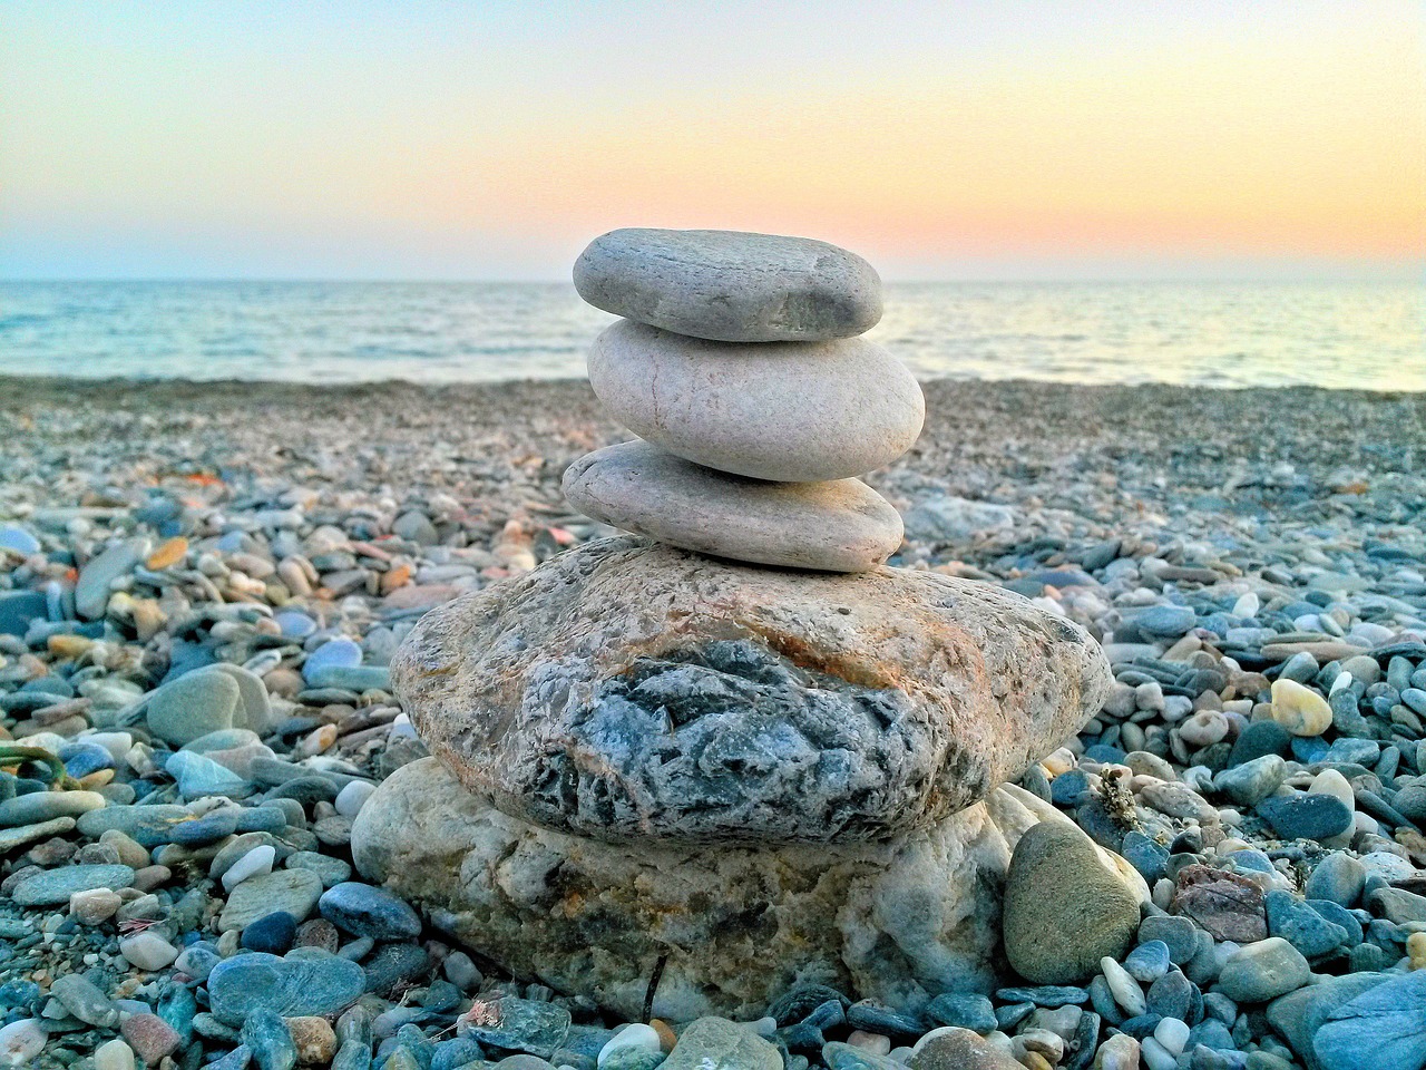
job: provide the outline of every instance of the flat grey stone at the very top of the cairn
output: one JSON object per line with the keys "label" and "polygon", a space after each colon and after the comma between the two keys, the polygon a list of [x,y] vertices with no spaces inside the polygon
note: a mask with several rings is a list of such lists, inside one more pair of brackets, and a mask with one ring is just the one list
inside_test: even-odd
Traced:
{"label": "flat grey stone at the very top of the cairn", "polygon": [[595,308],[693,338],[850,338],[881,320],[867,261],[813,238],[629,227],[589,243],[575,290]]}

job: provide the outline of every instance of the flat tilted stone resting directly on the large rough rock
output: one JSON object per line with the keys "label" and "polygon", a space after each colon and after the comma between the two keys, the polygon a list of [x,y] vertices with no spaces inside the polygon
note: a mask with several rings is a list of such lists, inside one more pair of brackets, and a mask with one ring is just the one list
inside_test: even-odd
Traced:
{"label": "flat tilted stone resting directly on the large rough rock", "polygon": [[597,521],[734,561],[866,572],[901,545],[900,514],[860,479],[749,479],[640,441],[579,458],[563,489]]}

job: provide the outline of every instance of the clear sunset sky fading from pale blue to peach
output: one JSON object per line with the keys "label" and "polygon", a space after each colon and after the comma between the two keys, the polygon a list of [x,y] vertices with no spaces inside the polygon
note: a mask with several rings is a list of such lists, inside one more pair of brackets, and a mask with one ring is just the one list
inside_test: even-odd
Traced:
{"label": "clear sunset sky fading from pale blue to peach", "polygon": [[623,225],[887,278],[1403,278],[1395,0],[0,0],[0,278],[568,278]]}

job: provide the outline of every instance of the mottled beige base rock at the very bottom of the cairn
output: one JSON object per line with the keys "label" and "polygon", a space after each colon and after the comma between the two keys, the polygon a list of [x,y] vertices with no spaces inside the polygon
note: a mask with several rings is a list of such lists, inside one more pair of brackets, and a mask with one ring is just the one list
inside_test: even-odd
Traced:
{"label": "mottled beige base rock at the very bottom of the cairn", "polygon": [[518,977],[639,1020],[666,959],[655,1014],[759,1017],[799,982],[907,1007],[987,990],[1002,973],[1010,856],[1041,820],[1068,826],[1001,786],[890,845],[603,843],[506,816],[428,758],[366,802],[352,855],[366,879]]}

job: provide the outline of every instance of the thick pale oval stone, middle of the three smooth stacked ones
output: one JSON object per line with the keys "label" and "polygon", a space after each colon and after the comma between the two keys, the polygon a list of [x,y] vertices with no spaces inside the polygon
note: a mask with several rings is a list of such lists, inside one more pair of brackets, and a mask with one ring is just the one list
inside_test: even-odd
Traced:
{"label": "thick pale oval stone, middle of the three smooth stacked ones", "polygon": [[754,479],[870,472],[910,449],[925,419],[911,372],[863,338],[737,345],[622,320],[595,340],[589,382],[640,438]]}

